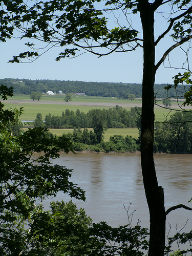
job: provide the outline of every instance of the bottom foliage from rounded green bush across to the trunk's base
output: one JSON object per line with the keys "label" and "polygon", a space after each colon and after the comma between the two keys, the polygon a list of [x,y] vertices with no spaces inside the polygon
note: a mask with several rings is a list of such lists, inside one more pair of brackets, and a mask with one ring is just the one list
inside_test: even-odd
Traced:
{"label": "bottom foliage from rounded green bush across to the trunk's base", "polygon": [[92,224],[84,209],[78,210],[72,201],[53,201],[50,207],[51,211],[38,212],[31,220],[28,239],[35,255],[139,256],[148,247],[147,229],[139,225]]}

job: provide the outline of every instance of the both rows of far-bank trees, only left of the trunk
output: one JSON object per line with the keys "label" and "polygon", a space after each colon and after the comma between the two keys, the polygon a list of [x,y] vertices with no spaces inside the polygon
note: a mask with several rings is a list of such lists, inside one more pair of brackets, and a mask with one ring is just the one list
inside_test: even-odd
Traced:
{"label": "both rows of far-bank trees, only left of the trunk", "polygon": [[[73,133],[68,133],[67,138],[73,142],[75,151],[134,152],[139,150],[139,140],[128,135],[125,138],[122,135],[114,135],[109,141],[104,142],[103,134],[110,127],[140,127],[140,113],[141,108],[131,108],[127,111],[118,105],[109,110],[91,110],[87,114],[79,110],[73,112],[67,109],[65,113],[62,112],[62,116],[47,115],[45,123],[42,121],[42,115],[38,113],[34,125],[54,128],[73,127]],[[93,131],[89,131],[88,127],[93,128]],[[63,136],[66,138],[66,135]],[[62,140],[63,136],[59,139]]]}

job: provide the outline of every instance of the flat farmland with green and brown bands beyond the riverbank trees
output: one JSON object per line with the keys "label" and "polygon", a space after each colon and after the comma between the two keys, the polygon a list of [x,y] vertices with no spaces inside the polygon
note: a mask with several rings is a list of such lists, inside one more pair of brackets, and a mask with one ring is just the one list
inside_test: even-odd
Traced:
{"label": "flat farmland with green and brown bands beyond the riverbank trees", "polygon": [[[51,115],[60,116],[62,111],[66,109],[70,111],[73,110],[74,112],[79,109],[87,113],[91,109],[109,109],[116,105],[122,106],[122,108],[126,110],[130,110],[131,107],[141,106],[141,99],[130,101],[118,98],[72,96],[72,101],[65,102],[63,100],[64,97],[64,95],[42,95],[39,101],[33,101],[29,98],[29,95],[15,95],[5,101],[4,104],[6,109],[24,107],[24,115],[22,115],[21,119],[27,121],[33,121],[37,113],[42,114],[42,119],[45,119],[45,116],[49,113]],[[161,101],[159,103],[161,103]],[[172,101],[172,107],[174,109],[179,108],[176,101]],[[168,113],[169,110],[155,106],[156,121],[164,121],[164,116]]]}

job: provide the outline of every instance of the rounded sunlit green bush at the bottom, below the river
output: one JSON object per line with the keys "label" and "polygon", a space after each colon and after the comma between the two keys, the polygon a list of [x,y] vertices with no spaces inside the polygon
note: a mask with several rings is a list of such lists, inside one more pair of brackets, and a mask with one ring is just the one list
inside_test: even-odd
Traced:
{"label": "rounded sunlit green bush at the bottom, below the river", "polygon": [[90,255],[96,239],[89,236],[90,217],[69,203],[51,202],[51,212],[34,214],[28,236],[35,255]]}

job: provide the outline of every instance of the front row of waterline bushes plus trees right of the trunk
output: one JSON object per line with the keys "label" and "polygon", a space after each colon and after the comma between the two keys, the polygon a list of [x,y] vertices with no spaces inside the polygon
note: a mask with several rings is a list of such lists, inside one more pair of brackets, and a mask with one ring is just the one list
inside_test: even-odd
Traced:
{"label": "front row of waterline bushes plus trees right of the trunk", "polygon": [[[137,125],[140,130],[139,118]],[[97,143],[96,134],[92,131],[88,132],[87,129],[83,131],[74,129],[73,134],[69,133],[67,136],[73,141],[76,151],[134,152],[140,150],[140,137],[135,139],[131,136],[114,135],[109,141],[101,140]],[[168,122],[156,122],[154,152],[192,153],[192,112],[176,112],[170,116]]]}

